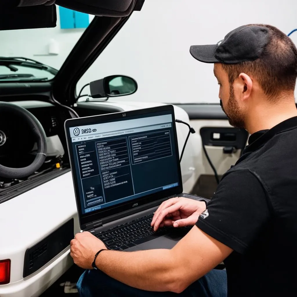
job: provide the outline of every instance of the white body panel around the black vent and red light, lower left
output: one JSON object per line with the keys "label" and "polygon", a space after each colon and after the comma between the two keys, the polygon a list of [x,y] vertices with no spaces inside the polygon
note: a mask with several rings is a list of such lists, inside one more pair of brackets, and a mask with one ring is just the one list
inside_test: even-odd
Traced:
{"label": "white body panel around the black vent and red light, lower left", "polygon": [[1,242],[5,244],[1,244],[0,259],[11,260],[10,283],[0,286],[1,296],[38,296],[35,294],[41,289],[40,286],[49,287],[67,271],[73,263],[68,256],[69,247],[23,278],[26,249],[71,218],[75,222],[74,233],[79,232],[70,172],[1,204],[0,225],[9,228],[1,230]]}

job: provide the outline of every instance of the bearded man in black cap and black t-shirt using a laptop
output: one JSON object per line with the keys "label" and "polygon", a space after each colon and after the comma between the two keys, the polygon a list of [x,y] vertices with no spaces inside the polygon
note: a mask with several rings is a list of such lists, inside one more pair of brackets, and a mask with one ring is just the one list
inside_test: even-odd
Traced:
{"label": "bearded man in black cap and black t-shirt using a laptop", "polygon": [[[193,225],[173,249],[103,250],[90,233],[71,241],[74,262],[86,268],[82,296],[296,296],[297,50],[277,28],[247,25],[216,45],[192,46],[214,63],[221,106],[234,127],[251,134],[242,157],[204,202],[173,198],[152,226]],[[199,216],[200,215],[200,216]],[[198,219],[199,217],[199,219]]]}

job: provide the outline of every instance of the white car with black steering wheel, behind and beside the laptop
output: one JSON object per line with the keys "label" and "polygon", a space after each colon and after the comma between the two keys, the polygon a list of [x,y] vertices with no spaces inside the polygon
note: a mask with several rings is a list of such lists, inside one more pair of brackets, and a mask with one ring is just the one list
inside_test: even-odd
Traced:
{"label": "white car with black steering wheel, behind and beside the laptop", "polygon": [[[57,1],[66,7],[68,2]],[[69,8],[99,16],[93,19],[59,71],[32,59],[0,57],[1,297],[40,296],[73,265],[69,242],[80,228],[64,121],[162,105],[129,102],[129,96],[121,102],[113,101],[113,97],[132,94],[136,89],[101,95],[97,92],[93,97],[76,94],[78,80],[131,13],[141,13],[134,11],[139,11],[144,1],[113,1],[114,7],[107,1],[98,0],[97,7],[88,6],[88,1],[76,1],[79,2]],[[9,9],[16,13],[16,8]],[[28,12],[29,8],[26,9]],[[45,16],[56,11],[52,4],[34,6],[32,13],[38,9]],[[49,26],[55,19],[37,18],[41,25],[32,25],[27,16],[17,13],[20,20],[8,25],[3,22],[0,29]],[[5,18],[3,10],[0,17]],[[123,82],[123,75],[116,77]],[[230,128],[219,105],[175,105],[174,110],[176,119],[196,130],[189,137],[181,161],[184,192],[211,198],[216,189],[214,175],[218,178],[236,162],[247,135]],[[189,127],[183,123],[176,123],[176,127],[181,155]],[[201,127],[206,127],[202,138]]]}

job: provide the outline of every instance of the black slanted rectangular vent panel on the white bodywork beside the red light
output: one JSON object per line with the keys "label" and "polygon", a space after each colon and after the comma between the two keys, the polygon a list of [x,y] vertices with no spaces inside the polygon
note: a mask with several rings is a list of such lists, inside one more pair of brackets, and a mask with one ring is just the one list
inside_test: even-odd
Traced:
{"label": "black slanted rectangular vent panel on the white bodywork beside the red light", "polygon": [[37,271],[67,248],[74,238],[74,219],[70,219],[60,228],[26,250],[23,277]]}

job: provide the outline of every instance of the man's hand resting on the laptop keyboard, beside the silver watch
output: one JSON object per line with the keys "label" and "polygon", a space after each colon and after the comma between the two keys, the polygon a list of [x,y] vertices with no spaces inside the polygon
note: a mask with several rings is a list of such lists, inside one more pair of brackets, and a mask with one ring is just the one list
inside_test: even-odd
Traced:
{"label": "man's hand resting on the laptop keyboard, beside the silver watch", "polygon": [[205,209],[206,204],[203,201],[189,198],[171,198],[164,201],[156,210],[151,226],[154,227],[154,231],[164,226],[193,226]]}

